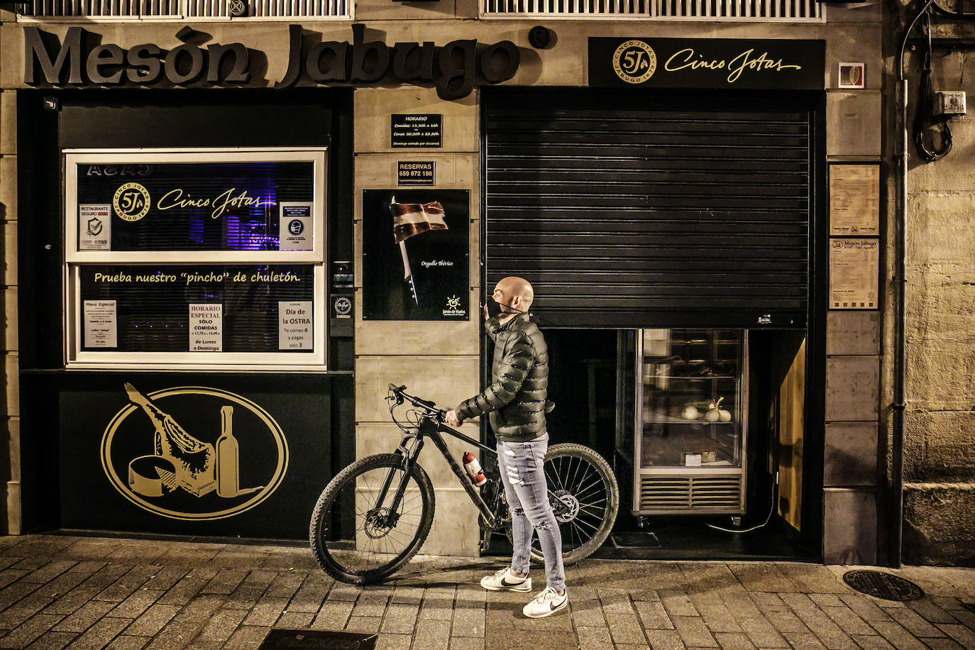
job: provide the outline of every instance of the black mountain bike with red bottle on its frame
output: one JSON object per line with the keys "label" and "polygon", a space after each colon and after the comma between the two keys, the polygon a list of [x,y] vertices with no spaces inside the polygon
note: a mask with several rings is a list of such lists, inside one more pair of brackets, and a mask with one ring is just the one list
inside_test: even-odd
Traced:
{"label": "black mountain bike with red bottle on its frame", "polygon": [[[490,548],[492,533],[511,539],[511,516],[496,464],[485,468],[487,483],[475,487],[441,434],[488,454],[496,456],[497,451],[448,427],[447,411],[434,401],[409,395],[406,386],[390,384],[386,401],[391,419],[403,432],[399,447],[393,453],[358,460],[335,475],[318,498],[308,529],[322,569],[352,585],[370,584],[395,573],[419,552],[430,532],[433,485],[417,462],[424,440],[433,441],[477,507],[484,530],[482,553]],[[412,408],[400,419],[396,409],[405,403]],[[549,446],[544,471],[549,502],[563,533],[563,562],[574,564],[596,551],[609,535],[619,508],[619,486],[603,457],[581,444]],[[531,558],[543,561],[537,536]]]}

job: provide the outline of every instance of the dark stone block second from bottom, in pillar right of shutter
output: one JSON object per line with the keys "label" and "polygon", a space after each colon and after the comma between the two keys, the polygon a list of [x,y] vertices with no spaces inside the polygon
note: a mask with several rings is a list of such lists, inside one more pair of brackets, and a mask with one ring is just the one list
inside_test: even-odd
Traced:
{"label": "dark stone block second from bottom, in pillar right of shutter", "polygon": [[877,485],[878,424],[826,425],[826,462],[823,484],[827,487]]}

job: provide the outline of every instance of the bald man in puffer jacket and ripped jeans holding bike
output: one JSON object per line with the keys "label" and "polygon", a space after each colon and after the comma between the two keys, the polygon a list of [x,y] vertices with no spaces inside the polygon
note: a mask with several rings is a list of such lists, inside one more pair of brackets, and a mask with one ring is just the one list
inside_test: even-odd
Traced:
{"label": "bald man in puffer jacket and ripped jeans holding bike", "polygon": [[[545,555],[546,588],[524,609],[531,618],[549,616],[568,606],[562,533],[548,500],[542,469],[548,433],[545,399],[548,390],[548,349],[538,326],[527,313],[534,291],[526,280],[508,277],[494,287],[485,304],[487,335],[494,341],[491,384],[485,391],[447,413],[447,423],[489,414],[497,439],[497,459],[504,495],[511,509],[514,554],[511,566],[486,576],[487,590],[529,592],[528,561],[532,533],[538,531]],[[530,524],[530,525],[529,525]]]}

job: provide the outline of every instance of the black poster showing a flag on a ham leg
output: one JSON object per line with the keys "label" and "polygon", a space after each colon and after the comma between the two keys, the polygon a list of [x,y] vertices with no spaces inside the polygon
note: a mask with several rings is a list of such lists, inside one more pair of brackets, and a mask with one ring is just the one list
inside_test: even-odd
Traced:
{"label": "black poster showing a flag on a ham leg", "polygon": [[466,321],[467,190],[363,191],[363,319]]}

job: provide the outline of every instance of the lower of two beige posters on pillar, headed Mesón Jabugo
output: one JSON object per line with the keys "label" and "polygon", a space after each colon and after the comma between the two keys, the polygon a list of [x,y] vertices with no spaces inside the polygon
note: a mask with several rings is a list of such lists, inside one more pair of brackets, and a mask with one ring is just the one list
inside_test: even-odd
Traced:
{"label": "lower of two beige posters on pillar, headed Mes\u00f3n Jabugo", "polygon": [[830,240],[830,309],[878,309],[876,239]]}

